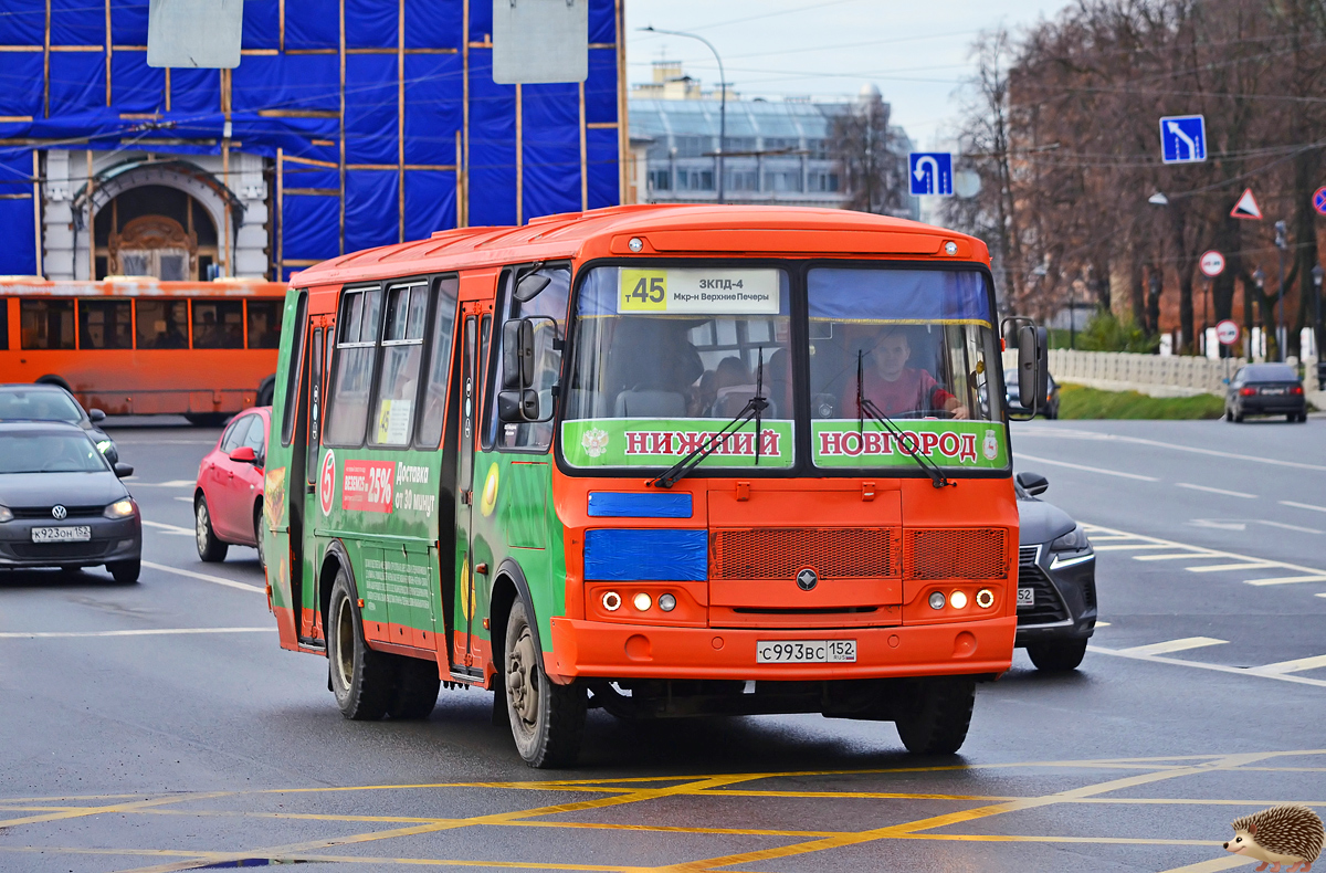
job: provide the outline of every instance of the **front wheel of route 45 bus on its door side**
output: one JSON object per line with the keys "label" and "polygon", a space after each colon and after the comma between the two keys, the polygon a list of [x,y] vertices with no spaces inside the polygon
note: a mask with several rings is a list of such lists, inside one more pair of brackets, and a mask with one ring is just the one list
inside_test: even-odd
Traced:
{"label": "front wheel of route 45 bus on its door side", "polygon": [[585,687],[554,685],[548,678],[530,629],[532,614],[517,597],[507,617],[503,669],[511,734],[530,767],[568,767],[575,763],[585,736]]}

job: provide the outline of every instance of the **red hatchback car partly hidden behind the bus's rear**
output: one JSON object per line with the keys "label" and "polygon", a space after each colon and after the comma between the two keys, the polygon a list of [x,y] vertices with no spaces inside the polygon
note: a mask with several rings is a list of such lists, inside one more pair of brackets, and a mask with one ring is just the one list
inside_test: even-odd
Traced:
{"label": "red hatchback car partly hidden behind the bus's rear", "polygon": [[253,406],[233,419],[203,458],[194,486],[194,540],[204,561],[224,561],[231,545],[263,548],[263,475],[272,407]]}

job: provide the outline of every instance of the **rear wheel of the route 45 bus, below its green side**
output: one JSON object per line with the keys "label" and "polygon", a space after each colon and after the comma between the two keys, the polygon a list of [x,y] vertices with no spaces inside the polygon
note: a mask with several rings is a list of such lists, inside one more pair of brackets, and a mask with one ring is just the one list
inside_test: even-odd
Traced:
{"label": "rear wheel of the route 45 bus, below its green side", "polygon": [[363,639],[363,622],[355,608],[350,574],[337,565],[332,584],[328,622],[328,661],[332,694],[341,715],[353,722],[375,722],[391,702],[391,655],[374,651]]}

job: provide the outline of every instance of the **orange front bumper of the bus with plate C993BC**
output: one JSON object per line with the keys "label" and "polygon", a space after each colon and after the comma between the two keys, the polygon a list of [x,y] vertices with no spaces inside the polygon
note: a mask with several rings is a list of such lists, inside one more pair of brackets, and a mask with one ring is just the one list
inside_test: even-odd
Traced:
{"label": "orange front bumper of the bus with plate C993BC", "polygon": [[[1017,618],[898,628],[668,628],[553,618],[550,674],[651,679],[873,679],[1000,674],[1013,661]],[[855,639],[854,663],[758,663],[757,642]]]}

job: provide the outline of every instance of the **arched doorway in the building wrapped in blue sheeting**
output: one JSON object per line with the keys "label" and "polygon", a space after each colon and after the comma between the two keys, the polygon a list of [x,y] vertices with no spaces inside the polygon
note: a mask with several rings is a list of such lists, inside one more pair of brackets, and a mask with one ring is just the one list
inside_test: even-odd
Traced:
{"label": "arched doorway in the building wrapped in blue sheeting", "polygon": [[95,277],[206,280],[219,260],[208,210],[175,187],[142,184],[115,195],[94,220]]}

